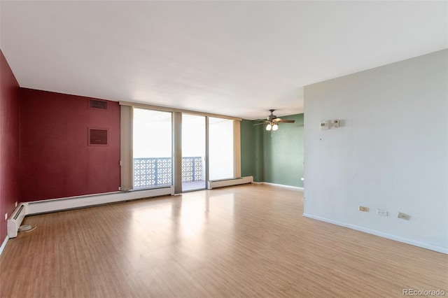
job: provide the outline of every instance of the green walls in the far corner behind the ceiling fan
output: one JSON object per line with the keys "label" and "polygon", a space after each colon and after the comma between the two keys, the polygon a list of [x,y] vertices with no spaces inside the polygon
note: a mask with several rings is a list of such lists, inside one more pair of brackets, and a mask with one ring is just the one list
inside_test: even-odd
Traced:
{"label": "green walls in the far corner behind the ceiling fan", "polygon": [[303,187],[303,114],[281,117],[295,123],[281,123],[276,132],[251,120],[241,122],[241,176],[257,182]]}

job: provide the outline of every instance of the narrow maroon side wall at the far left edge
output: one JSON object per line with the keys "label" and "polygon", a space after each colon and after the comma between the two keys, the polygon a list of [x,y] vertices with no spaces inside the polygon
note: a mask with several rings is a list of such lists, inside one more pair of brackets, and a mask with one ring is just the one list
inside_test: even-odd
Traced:
{"label": "narrow maroon side wall at the far left edge", "polygon": [[0,245],[8,234],[5,213],[19,199],[19,84],[0,50]]}

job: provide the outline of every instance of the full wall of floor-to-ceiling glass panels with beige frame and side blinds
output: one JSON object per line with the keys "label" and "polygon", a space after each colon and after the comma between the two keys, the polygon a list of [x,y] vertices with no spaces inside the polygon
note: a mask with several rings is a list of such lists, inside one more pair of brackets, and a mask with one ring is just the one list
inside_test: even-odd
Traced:
{"label": "full wall of floor-to-ceiling glass panels with beige frame and side blinds", "polygon": [[121,119],[122,190],[173,185],[180,193],[240,176],[235,120],[125,105]]}

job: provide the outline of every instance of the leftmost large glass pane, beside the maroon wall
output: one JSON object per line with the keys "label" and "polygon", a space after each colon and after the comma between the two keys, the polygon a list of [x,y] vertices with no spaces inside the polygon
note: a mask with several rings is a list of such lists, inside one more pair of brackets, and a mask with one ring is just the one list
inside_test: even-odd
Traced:
{"label": "leftmost large glass pane, beside the maroon wall", "polygon": [[132,188],[172,185],[172,113],[134,108],[132,124]]}

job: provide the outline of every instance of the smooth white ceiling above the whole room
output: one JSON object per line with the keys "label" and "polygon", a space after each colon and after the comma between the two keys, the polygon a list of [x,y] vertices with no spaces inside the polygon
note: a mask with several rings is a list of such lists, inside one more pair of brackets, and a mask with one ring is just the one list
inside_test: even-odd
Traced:
{"label": "smooth white ceiling above the whole room", "polygon": [[447,1],[1,1],[21,87],[265,118],[303,86],[448,48]]}

